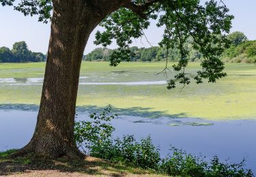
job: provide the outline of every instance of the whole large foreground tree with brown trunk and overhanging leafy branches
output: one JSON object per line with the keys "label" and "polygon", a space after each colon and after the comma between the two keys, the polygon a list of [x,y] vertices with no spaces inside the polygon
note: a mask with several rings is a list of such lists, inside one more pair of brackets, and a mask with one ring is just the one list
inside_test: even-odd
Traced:
{"label": "whole large foreground tree with brown trunk and overhanging leafy branches", "polygon": [[[15,0],[0,0],[12,5]],[[50,16],[53,7],[53,16]],[[178,74],[169,81],[189,84],[184,68],[188,64],[184,42],[192,36],[193,47],[203,54],[202,70],[195,80],[209,82],[225,76],[218,55],[227,46],[233,16],[222,3],[210,0],[23,0],[14,7],[25,15],[39,14],[40,21],[51,17],[51,37],[42,88],[42,98],[33,138],[20,153],[35,152],[49,157],[77,157],[81,152],[74,142],[74,114],[79,85],[79,71],[85,45],[91,31],[101,25],[106,30],[96,33],[95,44],[108,46],[115,39],[118,50],[111,54],[111,65],[130,60],[132,38],[143,35],[150,20],[158,19],[165,27],[160,46],[179,46],[181,59],[173,68]]]}

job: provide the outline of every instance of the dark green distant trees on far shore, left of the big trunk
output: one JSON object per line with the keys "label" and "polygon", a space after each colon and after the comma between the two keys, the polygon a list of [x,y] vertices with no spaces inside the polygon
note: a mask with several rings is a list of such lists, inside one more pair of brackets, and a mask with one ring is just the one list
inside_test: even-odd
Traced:
{"label": "dark green distant trees on far shore, left of the big trunk", "polygon": [[26,42],[16,42],[12,50],[7,47],[0,48],[0,63],[23,63],[45,61],[46,56],[41,52],[31,52]]}

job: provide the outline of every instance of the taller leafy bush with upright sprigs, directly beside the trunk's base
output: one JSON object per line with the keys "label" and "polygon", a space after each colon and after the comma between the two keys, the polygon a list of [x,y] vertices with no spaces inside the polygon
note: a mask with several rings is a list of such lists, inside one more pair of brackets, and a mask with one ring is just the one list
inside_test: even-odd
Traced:
{"label": "taller leafy bush with upright sprigs, directly beside the trunk's base", "polygon": [[111,106],[102,114],[90,114],[91,121],[75,123],[74,138],[79,148],[93,157],[154,169],[160,162],[160,155],[151,138],[142,139],[140,143],[132,135],[114,139],[115,128],[109,122],[115,116],[110,115],[110,111]]}

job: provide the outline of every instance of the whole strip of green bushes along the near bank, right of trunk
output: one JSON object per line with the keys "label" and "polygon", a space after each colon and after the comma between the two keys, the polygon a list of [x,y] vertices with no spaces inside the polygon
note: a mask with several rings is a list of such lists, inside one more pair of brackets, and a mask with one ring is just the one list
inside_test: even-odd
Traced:
{"label": "whole strip of green bushes along the near bank, right of trunk", "polygon": [[111,106],[104,109],[102,114],[90,114],[91,121],[75,123],[75,140],[88,155],[171,176],[253,176],[251,170],[244,169],[244,160],[237,164],[222,163],[218,157],[206,161],[203,157],[190,155],[177,148],[171,148],[171,153],[161,159],[159,149],[154,146],[150,136],[140,142],[137,142],[133,135],[113,138],[115,128],[110,122],[116,115],[110,113]]}

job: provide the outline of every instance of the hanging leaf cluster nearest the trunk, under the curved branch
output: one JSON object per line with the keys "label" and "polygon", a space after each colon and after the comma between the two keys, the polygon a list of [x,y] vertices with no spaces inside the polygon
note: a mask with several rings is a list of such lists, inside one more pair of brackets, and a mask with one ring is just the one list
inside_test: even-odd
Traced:
{"label": "hanging leaf cluster nearest the trunk, under the curved branch", "polygon": [[132,10],[122,7],[113,12],[111,16],[106,17],[100,26],[104,27],[106,31],[102,33],[97,31],[94,43],[106,47],[115,39],[119,48],[113,51],[110,61],[111,65],[117,66],[121,61],[130,61],[130,57],[133,55],[129,49],[129,45],[132,44],[132,37],[141,37],[143,29],[147,29],[150,22],[148,19],[134,14]]}

